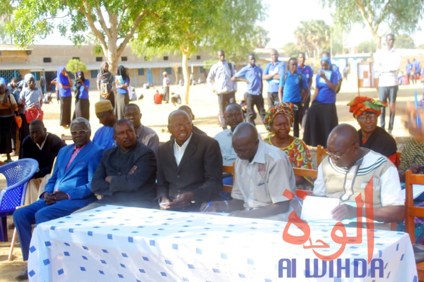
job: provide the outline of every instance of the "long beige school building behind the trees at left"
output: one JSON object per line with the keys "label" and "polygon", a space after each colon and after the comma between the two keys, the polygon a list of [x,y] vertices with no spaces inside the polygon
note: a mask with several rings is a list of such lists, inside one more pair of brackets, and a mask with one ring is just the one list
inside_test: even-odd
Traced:
{"label": "long beige school building behind the trees at left", "polygon": [[[65,66],[69,60],[77,58],[87,66],[84,73],[90,80],[90,88],[96,89],[96,77],[100,70],[101,62],[106,58],[103,54],[95,54],[93,46],[71,45],[33,45],[28,48],[19,48],[13,45],[0,45],[0,76],[10,81],[13,77],[24,76],[31,72],[39,83],[41,75],[46,79],[47,91],[52,91],[55,86],[51,81],[56,77],[57,70]],[[209,52],[204,50],[193,54],[189,59],[189,73],[198,81],[206,81],[203,62],[211,59]],[[162,85],[162,72],[168,72],[172,84],[183,79],[181,54],[165,54],[163,56],[147,57],[137,56],[127,46],[118,59],[118,65],[127,68],[130,83],[133,87],[142,87],[144,83]],[[70,73],[71,78],[74,74]]]}

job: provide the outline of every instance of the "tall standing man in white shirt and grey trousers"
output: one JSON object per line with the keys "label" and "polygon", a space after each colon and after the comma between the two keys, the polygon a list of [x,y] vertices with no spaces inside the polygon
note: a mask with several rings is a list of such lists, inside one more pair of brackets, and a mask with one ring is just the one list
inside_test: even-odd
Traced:
{"label": "tall standing man in white shirt and grey trousers", "polygon": [[[380,101],[387,103],[388,98],[390,102],[388,133],[391,134],[395,120],[396,96],[399,86],[397,72],[401,65],[401,55],[393,48],[395,35],[386,35],[385,42],[387,49],[383,48],[375,54],[374,70],[379,77],[378,91],[380,93]],[[382,108],[381,111],[380,124],[381,128],[385,129],[385,108]]]}

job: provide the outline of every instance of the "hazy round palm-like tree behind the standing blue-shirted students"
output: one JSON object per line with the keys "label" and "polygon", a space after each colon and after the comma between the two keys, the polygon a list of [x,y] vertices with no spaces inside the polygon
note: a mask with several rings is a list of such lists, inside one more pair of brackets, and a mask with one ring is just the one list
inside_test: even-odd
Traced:
{"label": "hazy round palm-like tree behind the standing blue-shirted students", "polygon": [[294,31],[294,36],[298,49],[309,57],[320,56],[324,50],[329,51],[330,26],[324,20],[301,21]]}

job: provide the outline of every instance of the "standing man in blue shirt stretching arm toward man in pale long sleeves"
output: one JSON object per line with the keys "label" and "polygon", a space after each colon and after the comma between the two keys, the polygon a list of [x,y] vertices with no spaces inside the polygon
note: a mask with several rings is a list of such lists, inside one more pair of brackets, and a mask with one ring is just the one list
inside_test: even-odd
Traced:
{"label": "standing man in blue shirt stretching arm toward man in pale long sleeves", "polygon": [[255,65],[256,59],[254,54],[249,55],[248,61],[249,65],[238,71],[233,77],[231,77],[231,80],[244,81],[248,84],[248,89],[246,92],[246,121],[248,123],[255,124],[255,114],[253,111],[254,105],[256,105],[262,122],[264,122],[265,118],[264,97],[262,97],[262,69]]}

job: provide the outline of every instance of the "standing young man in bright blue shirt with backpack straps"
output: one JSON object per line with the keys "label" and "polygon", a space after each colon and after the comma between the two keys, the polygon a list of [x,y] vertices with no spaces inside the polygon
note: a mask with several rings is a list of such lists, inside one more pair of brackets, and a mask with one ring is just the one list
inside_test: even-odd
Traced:
{"label": "standing young man in bright blue shirt with backpack straps", "polygon": [[302,104],[308,99],[308,80],[297,71],[297,59],[289,59],[289,71],[280,78],[278,97],[280,102],[290,102],[297,106],[293,111],[293,135],[299,137],[300,113]]}

